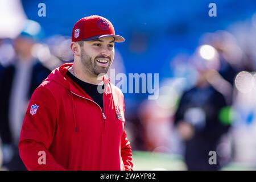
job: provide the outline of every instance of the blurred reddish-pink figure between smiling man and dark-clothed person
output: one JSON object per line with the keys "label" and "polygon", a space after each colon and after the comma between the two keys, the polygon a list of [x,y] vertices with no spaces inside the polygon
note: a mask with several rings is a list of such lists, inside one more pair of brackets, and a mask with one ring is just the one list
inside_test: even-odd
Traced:
{"label": "blurred reddish-pink figure between smiling man and dark-clothed person", "polygon": [[[168,100],[169,101],[169,100]],[[170,152],[170,111],[163,107],[162,100],[144,100],[139,106],[139,119],[143,130],[145,150]]]}

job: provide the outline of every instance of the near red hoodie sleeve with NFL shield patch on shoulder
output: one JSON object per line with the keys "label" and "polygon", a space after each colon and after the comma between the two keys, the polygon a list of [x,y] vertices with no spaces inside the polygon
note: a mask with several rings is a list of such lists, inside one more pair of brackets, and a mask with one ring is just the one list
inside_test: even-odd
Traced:
{"label": "near red hoodie sleeve with NFL shield patch on shoulder", "polygon": [[32,94],[19,140],[20,158],[28,170],[65,170],[48,151],[56,129],[56,110],[51,92],[39,86]]}

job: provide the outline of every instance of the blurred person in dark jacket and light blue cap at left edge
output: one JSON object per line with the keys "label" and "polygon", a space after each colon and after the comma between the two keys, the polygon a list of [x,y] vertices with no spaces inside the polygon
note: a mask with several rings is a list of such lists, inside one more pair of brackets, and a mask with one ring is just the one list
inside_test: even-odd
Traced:
{"label": "blurred person in dark jacket and light blue cap at left edge", "polygon": [[3,166],[9,170],[26,169],[19,157],[20,129],[31,94],[51,73],[32,56],[32,48],[40,38],[40,25],[27,20],[20,35],[13,40],[16,53],[14,64],[5,67],[0,77]]}

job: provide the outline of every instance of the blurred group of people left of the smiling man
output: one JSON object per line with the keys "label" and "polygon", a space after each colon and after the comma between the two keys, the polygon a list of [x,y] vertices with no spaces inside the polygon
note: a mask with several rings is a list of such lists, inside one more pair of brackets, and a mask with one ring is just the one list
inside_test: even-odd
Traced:
{"label": "blurred group of people left of the smiling man", "polygon": [[26,20],[14,39],[0,39],[0,157],[5,169],[26,170],[18,142],[30,97],[52,69],[72,61],[70,39],[56,35],[43,43],[42,38],[40,24]]}

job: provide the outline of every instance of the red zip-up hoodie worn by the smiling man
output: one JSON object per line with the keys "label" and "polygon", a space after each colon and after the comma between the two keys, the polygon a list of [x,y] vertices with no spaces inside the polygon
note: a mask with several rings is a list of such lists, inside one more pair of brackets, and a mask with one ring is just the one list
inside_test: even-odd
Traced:
{"label": "red zip-up hoodie worn by the smiling man", "polygon": [[[28,170],[132,170],[123,94],[105,79],[104,108],[56,68],[32,94],[19,152]],[[46,159],[46,160],[44,160]]]}

